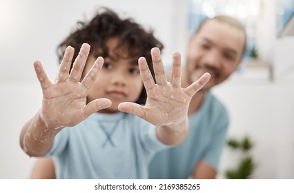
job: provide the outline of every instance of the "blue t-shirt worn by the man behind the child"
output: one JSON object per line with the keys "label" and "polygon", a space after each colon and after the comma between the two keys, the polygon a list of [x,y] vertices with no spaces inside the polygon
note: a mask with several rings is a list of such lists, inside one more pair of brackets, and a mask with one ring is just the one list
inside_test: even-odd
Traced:
{"label": "blue t-shirt worn by the man behind the child", "polygon": [[150,179],[187,179],[200,160],[217,170],[228,123],[226,108],[208,92],[199,111],[189,116],[185,141],[155,154],[149,167]]}

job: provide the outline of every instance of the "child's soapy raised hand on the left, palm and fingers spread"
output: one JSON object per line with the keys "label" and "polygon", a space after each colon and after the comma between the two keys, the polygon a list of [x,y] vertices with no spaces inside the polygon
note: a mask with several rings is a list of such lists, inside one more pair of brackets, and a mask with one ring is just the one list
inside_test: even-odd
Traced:
{"label": "child's soapy raised hand on the left, palm and fingers spread", "polygon": [[104,59],[99,57],[80,82],[89,51],[90,45],[84,43],[70,71],[75,50],[70,46],[66,48],[55,83],[48,79],[39,61],[34,63],[35,72],[43,90],[40,116],[48,127],[60,128],[77,125],[90,114],[111,105],[109,99],[96,99],[86,104],[89,88],[104,63]]}

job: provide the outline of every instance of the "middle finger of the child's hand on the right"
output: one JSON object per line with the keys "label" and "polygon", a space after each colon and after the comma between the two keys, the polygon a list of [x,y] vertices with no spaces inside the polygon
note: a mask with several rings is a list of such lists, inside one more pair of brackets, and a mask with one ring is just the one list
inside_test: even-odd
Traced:
{"label": "middle finger of the child's hand on the right", "polygon": [[152,48],[151,56],[156,83],[158,85],[166,85],[166,74],[164,74],[164,64],[161,61],[159,48]]}

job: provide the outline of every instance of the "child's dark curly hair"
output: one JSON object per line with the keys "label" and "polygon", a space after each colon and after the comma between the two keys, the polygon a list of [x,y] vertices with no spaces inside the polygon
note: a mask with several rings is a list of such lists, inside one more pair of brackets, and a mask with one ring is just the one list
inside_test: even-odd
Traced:
{"label": "child's dark curly hair", "polygon": [[[162,50],[164,45],[153,36],[153,30],[144,30],[144,28],[138,23],[135,23],[133,19],[121,19],[115,12],[108,8],[100,8],[91,21],[79,21],[77,23],[75,32],[72,32],[57,47],[59,61],[61,61],[68,45],[76,50],[73,57],[74,60],[78,54],[77,50],[81,48],[83,43],[88,43],[91,46],[90,54],[99,49],[101,50],[101,57],[109,57],[109,50],[106,43],[113,37],[117,37],[118,39],[115,48],[115,57],[124,59],[139,59],[139,57],[145,57],[154,79],[150,50],[154,47]],[[128,49],[127,56],[123,57],[119,55],[117,50],[121,48]],[[146,97],[146,90],[143,88],[136,103],[144,104],[146,102]]]}

